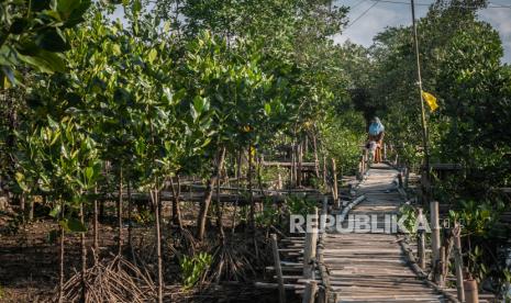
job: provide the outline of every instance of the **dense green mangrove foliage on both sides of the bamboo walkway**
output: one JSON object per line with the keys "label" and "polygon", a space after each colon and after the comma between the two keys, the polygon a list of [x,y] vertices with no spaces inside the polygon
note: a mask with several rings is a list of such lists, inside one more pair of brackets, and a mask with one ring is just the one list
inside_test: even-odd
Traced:
{"label": "dense green mangrove foliage on both sides of the bamboo walkway", "polygon": [[[434,198],[464,220],[469,269],[498,292],[511,274],[503,265],[487,265],[509,238],[498,221],[510,211],[499,189],[511,181],[511,68],[500,61],[498,33],[477,19],[485,5],[438,0],[419,22],[419,41],[424,90],[440,101],[427,114],[432,162],[463,167],[435,181]],[[115,8],[123,20],[111,20]],[[411,29],[388,29],[369,48],[335,45],[331,37],[342,33],[347,11],[324,0],[2,2],[0,180],[11,204],[20,205],[9,216],[37,220],[34,203],[44,204],[58,222],[52,235],[59,235],[62,249],[66,235],[79,233],[86,250],[97,192],[143,192],[149,210],[135,211],[130,194],[129,201],[115,197],[116,224],[130,221],[131,256],[132,218],[154,225],[151,273],[159,301],[163,284],[175,282],[167,261],[180,266],[187,289],[207,277],[247,279],[263,262],[260,232],[275,228],[281,215],[274,205],[256,210],[254,190],[280,176],[262,168],[263,157],[287,153],[316,162],[308,186],[326,190],[332,178],[324,182],[319,167],[334,158],[338,176],[355,175],[366,121],[378,115],[386,141],[420,172]],[[242,239],[234,223],[232,235],[224,231],[227,213],[214,201],[215,186],[233,186],[233,176],[249,201],[233,211],[238,229],[251,235]],[[180,210],[176,198],[165,217],[160,192],[178,195],[181,179],[191,177],[205,188],[199,210]],[[295,176],[285,186],[302,182]],[[309,206],[286,203],[288,212]],[[60,290],[64,276],[60,263]]]}

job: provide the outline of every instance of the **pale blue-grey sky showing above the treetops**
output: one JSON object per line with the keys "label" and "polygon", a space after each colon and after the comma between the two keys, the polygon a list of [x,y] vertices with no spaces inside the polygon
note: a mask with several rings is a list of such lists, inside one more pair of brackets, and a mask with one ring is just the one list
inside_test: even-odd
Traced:
{"label": "pale blue-grey sky showing above the treetops", "polygon": [[[385,27],[410,25],[412,23],[410,5],[407,3],[392,3],[409,2],[410,0],[388,1],[382,0],[376,3],[375,0],[337,0],[337,5],[352,8],[348,18],[353,25],[349,24],[342,35],[335,36],[335,42],[343,43],[349,40],[353,43],[369,46],[373,44],[373,37],[382,32]],[[415,0],[418,19],[426,14],[427,4],[432,2],[434,0]],[[480,10],[478,16],[480,20],[489,22],[499,32],[504,46],[502,61],[511,64],[511,0],[490,0],[489,7],[509,7]]]}

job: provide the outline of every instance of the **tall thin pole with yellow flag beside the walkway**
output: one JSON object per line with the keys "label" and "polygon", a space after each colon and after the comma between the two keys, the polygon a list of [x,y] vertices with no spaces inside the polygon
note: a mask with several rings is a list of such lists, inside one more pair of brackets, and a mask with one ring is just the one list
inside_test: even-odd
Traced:
{"label": "tall thin pole with yellow flag beside the walkway", "polygon": [[424,202],[427,204],[430,202],[430,150],[427,147],[427,124],[425,119],[425,106],[424,106],[424,98],[422,98],[422,76],[421,76],[421,59],[419,54],[419,38],[416,35],[416,23],[415,23],[415,2],[414,0],[411,1],[412,8],[412,26],[413,26],[413,42],[415,45],[415,58],[416,58],[416,77],[419,81],[419,97],[421,98],[421,122],[422,122],[422,145],[424,148],[424,175],[423,178],[425,179],[424,183],[426,189],[424,189]]}

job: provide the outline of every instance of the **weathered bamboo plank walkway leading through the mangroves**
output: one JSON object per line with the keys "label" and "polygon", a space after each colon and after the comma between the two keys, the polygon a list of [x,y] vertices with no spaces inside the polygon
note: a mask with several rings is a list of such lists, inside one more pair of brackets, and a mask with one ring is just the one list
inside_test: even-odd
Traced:
{"label": "weathered bamboo plank walkway leading through the mangroves", "polygon": [[[377,215],[378,222],[385,214],[397,214],[403,202],[393,190],[397,175],[388,165],[374,165],[356,192],[366,199],[349,213]],[[346,217],[343,226],[348,223]],[[447,302],[443,294],[416,278],[395,234],[330,231],[324,235],[323,262],[336,303]]]}

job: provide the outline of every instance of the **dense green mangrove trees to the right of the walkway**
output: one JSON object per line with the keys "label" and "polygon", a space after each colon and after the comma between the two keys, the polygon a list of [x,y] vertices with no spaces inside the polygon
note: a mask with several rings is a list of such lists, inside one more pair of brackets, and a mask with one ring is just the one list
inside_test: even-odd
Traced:
{"label": "dense green mangrove trees to the right of the walkway", "polygon": [[[449,3],[452,2],[452,3]],[[427,113],[431,162],[460,164],[448,178],[433,175],[434,199],[449,205],[451,217],[465,222],[471,246],[469,267],[486,289],[500,291],[509,281],[497,255],[509,240],[500,215],[510,210],[502,188],[511,181],[510,66],[501,63],[502,43],[488,23],[477,19],[485,1],[437,1],[418,24],[423,87],[440,109]],[[354,102],[366,116],[377,114],[387,138],[409,167],[423,160],[415,54],[410,27],[378,34],[367,52],[371,61],[364,93]],[[362,98],[359,96],[363,96]],[[488,278],[488,280],[487,280]],[[490,282],[491,281],[491,282]]]}

